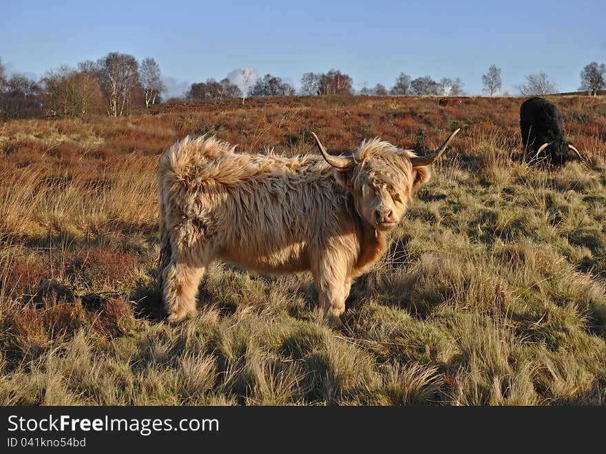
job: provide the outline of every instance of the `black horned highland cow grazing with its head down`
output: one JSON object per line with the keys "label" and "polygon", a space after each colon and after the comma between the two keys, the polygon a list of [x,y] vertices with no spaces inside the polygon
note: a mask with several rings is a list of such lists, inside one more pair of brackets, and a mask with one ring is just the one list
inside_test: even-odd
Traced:
{"label": "black horned highland cow grazing with its head down", "polygon": [[554,103],[530,98],[520,107],[520,130],[528,162],[545,161],[562,165],[581,154],[564,138],[562,115]]}

